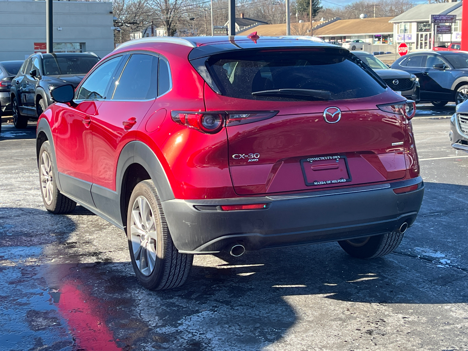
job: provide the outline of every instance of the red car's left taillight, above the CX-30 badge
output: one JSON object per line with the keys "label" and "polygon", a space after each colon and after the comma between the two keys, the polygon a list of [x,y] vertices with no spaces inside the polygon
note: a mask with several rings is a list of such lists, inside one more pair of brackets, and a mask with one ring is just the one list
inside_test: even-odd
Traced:
{"label": "red car's left taillight, above the CX-30 badge", "polygon": [[172,120],[178,124],[194,128],[200,132],[214,134],[219,132],[225,125],[239,125],[263,121],[275,116],[279,111],[241,111],[241,112],[195,112],[195,111],[172,111]]}

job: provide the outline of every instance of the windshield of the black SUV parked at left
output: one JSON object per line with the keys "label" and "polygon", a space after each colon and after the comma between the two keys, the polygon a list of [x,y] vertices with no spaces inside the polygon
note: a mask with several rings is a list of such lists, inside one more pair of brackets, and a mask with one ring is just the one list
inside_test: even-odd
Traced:
{"label": "windshield of the black SUV parked at left", "polygon": [[44,75],[86,74],[99,61],[97,57],[76,56],[43,59]]}

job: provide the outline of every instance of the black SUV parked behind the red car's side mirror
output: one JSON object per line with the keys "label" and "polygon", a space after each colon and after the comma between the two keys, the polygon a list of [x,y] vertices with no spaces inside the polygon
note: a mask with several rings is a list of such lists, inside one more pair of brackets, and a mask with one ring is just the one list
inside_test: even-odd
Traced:
{"label": "black SUV parked behind the red car's side mirror", "polygon": [[93,53],[37,53],[29,56],[12,81],[10,96],[13,123],[26,128],[52,103],[53,88],[71,84],[74,88],[99,61]]}

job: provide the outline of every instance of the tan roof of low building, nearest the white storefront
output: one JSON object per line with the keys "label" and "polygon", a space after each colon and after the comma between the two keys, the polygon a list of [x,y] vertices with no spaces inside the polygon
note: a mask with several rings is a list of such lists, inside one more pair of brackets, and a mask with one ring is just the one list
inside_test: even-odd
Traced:
{"label": "tan roof of low building, nearest the white storefront", "polygon": [[314,30],[314,37],[393,33],[393,17],[339,20]]}

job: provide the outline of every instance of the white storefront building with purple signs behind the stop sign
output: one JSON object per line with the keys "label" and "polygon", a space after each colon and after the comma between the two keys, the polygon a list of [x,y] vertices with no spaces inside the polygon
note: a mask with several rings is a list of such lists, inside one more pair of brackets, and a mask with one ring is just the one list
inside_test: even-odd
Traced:
{"label": "white storefront building with purple signs behind the stop sign", "polygon": [[[393,23],[396,44],[404,42],[409,51],[415,51],[460,43],[461,8],[461,1],[443,2],[421,4],[403,12],[390,20]],[[441,18],[446,18],[447,22],[442,22],[444,20]]]}

